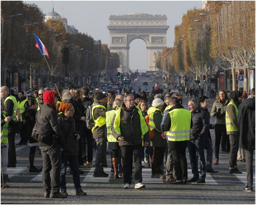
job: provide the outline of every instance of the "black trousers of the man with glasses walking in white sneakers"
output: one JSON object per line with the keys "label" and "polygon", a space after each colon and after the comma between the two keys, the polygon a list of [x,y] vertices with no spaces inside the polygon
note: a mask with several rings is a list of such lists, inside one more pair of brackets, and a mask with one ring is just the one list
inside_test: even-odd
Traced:
{"label": "black trousers of the man with glasses walking in white sneakers", "polygon": [[142,144],[136,146],[120,146],[120,149],[123,159],[123,183],[131,184],[131,172],[133,170],[131,161],[133,160],[133,158],[135,163],[135,184],[142,182],[141,158],[142,152],[144,150]]}

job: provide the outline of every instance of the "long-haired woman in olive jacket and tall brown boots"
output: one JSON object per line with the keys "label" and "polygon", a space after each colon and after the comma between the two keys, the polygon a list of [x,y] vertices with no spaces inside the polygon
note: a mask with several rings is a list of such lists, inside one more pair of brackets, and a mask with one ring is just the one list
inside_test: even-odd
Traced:
{"label": "long-haired woman in olive jacket and tall brown boots", "polygon": [[[229,138],[227,137],[227,130],[226,130],[226,108],[227,104],[229,104],[229,97],[225,90],[219,90],[218,96],[216,97],[215,102],[212,106],[211,117],[216,117],[215,121],[215,165],[219,164],[219,145],[221,144],[221,137],[222,141],[229,144]],[[228,152],[226,150],[226,143],[225,147],[222,146],[222,152]],[[224,144],[224,143],[223,143]],[[223,145],[222,144],[222,145]],[[230,146],[229,146],[230,147]]]}

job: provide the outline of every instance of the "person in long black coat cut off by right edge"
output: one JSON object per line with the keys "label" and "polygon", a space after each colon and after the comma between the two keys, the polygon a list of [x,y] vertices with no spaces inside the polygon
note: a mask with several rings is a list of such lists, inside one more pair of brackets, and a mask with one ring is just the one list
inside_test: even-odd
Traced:
{"label": "person in long black coat cut off by right edge", "polygon": [[239,147],[246,151],[247,186],[243,191],[253,191],[253,150],[255,150],[255,88],[251,89],[252,98],[242,100],[237,121],[240,125]]}

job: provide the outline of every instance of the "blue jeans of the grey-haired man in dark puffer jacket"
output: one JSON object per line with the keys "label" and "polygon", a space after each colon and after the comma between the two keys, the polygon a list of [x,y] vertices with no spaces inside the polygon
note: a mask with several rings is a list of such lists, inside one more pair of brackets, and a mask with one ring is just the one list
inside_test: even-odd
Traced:
{"label": "blue jeans of the grey-haired man in dark puffer jacket", "polygon": [[[189,150],[189,159],[192,167],[192,173],[196,179],[205,179],[206,178],[206,162],[204,158],[204,140],[193,140],[187,141],[187,149]],[[197,152],[199,155],[200,162],[200,177],[198,174],[197,167]]]}

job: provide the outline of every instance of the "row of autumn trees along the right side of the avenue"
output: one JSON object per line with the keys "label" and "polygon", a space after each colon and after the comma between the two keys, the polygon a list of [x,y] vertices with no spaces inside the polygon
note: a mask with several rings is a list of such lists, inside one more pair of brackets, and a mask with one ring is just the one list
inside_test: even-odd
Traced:
{"label": "row of autumn trees along the right side of the avenue", "polygon": [[250,70],[255,76],[255,2],[207,1],[206,8],[187,11],[175,26],[174,47],[158,54],[155,66],[169,79],[184,77],[189,87],[205,78],[206,90],[211,82],[217,84],[220,71],[226,79],[224,88],[237,90],[233,73],[238,72],[250,93]]}

